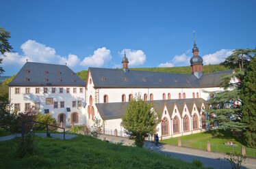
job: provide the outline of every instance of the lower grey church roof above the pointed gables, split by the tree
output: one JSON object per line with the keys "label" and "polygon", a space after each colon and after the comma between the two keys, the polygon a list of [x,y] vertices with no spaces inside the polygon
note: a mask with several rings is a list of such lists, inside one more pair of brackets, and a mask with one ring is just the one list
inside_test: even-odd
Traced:
{"label": "lower grey church roof above the pointed gables, split by the tree", "polygon": [[[207,102],[201,98],[154,100],[153,107],[155,108],[157,114],[162,115],[164,105],[166,105],[168,112],[170,113],[170,116],[172,116],[172,110],[175,104],[182,105],[182,106],[177,106],[179,112],[182,113],[184,103],[186,103],[187,106],[192,107],[191,105],[194,103],[196,104],[196,106],[201,106],[202,102],[205,104],[205,106],[207,106]],[[110,120],[110,119],[122,118],[123,115],[125,114],[128,104],[129,102],[116,102],[116,103],[107,103],[107,104],[96,104],[96,106],[99,111],[99,114],[101,115],[101,118],[103,120]]]}

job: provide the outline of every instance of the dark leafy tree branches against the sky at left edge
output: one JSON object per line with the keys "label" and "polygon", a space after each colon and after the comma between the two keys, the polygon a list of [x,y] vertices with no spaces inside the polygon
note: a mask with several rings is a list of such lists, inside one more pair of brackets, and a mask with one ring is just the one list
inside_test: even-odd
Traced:
{"label": "dark leafy tree branches against the sky at left edge", "polygon": [[[3,27],[0,27],[0,52],[1,55],[5,57],[5,52],[10,52],[12,46],[10,46],[8,39],[10,38],[10,31],[5,31]],[[2,63],[3,58],[0,58],[0,64]],[[0,67],[0,75],[4,72],[3,67]]]}

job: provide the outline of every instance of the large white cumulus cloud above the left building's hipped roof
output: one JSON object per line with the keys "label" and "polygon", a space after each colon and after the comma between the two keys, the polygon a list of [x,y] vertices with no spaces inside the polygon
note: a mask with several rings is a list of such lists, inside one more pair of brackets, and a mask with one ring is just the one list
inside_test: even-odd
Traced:
{"label": "large white cumulus cloud above the left building's hipped roof", "polygon": [[54,48],[40,44],[35,40],[27,40],[21,45],[23,54],[18,52],[6,52],[7,57],[3,58],[3,65],[23,65],[27,59],[31,62],[57,63],[75,67],[80,61],[77,55],[69,54],[68,57],[57,55]]}

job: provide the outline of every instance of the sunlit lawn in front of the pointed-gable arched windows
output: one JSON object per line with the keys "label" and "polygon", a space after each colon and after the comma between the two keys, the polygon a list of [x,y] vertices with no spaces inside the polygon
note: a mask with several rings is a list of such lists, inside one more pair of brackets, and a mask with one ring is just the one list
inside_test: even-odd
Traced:
{"label": "sunlit lawn in front of the pointed-gable arched windows", "polygon": [[[235,146],[225,145],[226,141],[231,140],[235,144]],[[208,132],[201,132],[198,134],[181,136],[181,145],[185,147],[207,150],[207,141],[210,142],[212,151],[218,151],[221,153],[232,153],[233,151],[238,151],[241,153],[241,146],[246,145],[242,137],[233,137],[231,133],[218,129]],[[166,140],[162,140],[162,142],[177,145],[178,138],[169,138]],[[246,147],[246,155],[248,157],[255,157],[256,150]]]}

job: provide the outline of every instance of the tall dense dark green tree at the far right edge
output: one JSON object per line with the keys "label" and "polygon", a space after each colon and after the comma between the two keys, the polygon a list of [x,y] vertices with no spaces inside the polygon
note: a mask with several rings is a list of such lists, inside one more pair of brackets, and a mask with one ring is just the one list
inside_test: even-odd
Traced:
{"label": "tall dense dark green tree at the far right edge", "polygon": [[250,147],[256,147],[256,55],[253,57],[242,80],[242,121],[248,125],[245,136]]}

